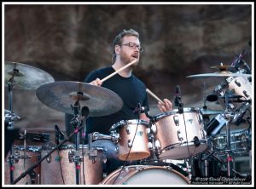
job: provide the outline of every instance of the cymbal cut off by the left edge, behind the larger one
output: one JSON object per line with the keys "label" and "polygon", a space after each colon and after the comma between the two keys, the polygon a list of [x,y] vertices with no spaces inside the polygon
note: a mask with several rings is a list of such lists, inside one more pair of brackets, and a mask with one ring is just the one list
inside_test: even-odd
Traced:
{"label": "cymbal cut off by the left edge, behind the larger one", "polygon": [[4,62],[4,83],[10,79],[15,81],[15,89],[38,89],[45,83],[53,83],[55,79],[49,73],[22,63],[5,61]]}

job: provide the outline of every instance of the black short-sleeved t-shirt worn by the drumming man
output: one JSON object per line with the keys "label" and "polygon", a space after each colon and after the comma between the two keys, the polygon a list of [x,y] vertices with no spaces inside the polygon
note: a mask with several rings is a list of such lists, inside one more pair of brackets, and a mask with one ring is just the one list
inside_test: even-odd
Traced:
{"label": "black short-sleeved t-shirt worn by the drumming man", "polygon": [[[85,83],[90,83],[96,78],[104,78],[115,72],[113,67],[101,68],[90,74],[84,79]],[[138,115],[134,113],[138,103],[141,106],[148,108],[148,97],[145,84],[134,75],[131,77],[122,77],[119,74],[110,77],[102,83],[102,87],[112,90],[118,94],[123,100],[123,107],[119,112],[103,116],[103,117],[88,117],[86,123],[86,135],[99,132],[103,135],[109,135],[109,129],[115,123],[121,120],[138,119]]]}

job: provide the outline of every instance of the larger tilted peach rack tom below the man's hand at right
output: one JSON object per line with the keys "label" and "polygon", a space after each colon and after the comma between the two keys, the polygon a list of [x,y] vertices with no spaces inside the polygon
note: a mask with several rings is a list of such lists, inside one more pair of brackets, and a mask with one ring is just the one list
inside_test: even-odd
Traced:
{"label": "larger tilted peach rack tom below the man's hand at right", "polygon": [[151,129],[160,159],[189,158],[207,149],[207,133],[199,109],[163,112],[154,120]]}

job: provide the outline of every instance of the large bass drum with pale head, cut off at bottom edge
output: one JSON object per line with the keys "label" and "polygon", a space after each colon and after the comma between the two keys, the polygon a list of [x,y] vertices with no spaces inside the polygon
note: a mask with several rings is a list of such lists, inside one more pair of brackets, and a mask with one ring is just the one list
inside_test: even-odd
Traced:
{"label": "large bass drum with pale head, cut off at bottom edge", "polygon": [[[121,171],[121,172],[120,172]],[[108,175],[102,185],[189,185],[189,179],[171,167],[131,165]]]}

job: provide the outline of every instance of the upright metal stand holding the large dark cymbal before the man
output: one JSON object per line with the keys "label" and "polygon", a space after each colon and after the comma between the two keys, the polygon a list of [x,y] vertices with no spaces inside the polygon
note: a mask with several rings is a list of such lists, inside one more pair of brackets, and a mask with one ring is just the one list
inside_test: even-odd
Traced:
{"label": "upright metal stand holding the large dark cymbal before the man", "polygon": [[[78,93],[78,95],[81,95]],[[79,155],[79,127],[82,125],[82,120],[80,118],[80,103],[79,100],[77,100],[72,106],[74,116],[73,119],[71,120],[71,124],[74,127],[74,133],[76,135],[75,137],[75,152],[72,154],[68,155],[69,162],[74,162],[75,163],[75,168],[76,168],[76,184],[79,185],[79,176],[80,176],[80,168],[81,168],[81,162],[83,161],[82,157]]]}

